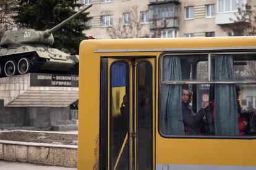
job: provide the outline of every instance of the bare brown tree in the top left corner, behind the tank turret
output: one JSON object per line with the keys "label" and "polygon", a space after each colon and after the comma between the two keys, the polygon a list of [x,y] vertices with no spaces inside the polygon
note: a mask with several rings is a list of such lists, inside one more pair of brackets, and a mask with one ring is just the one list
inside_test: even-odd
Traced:
{"label": "bare brown tree in the top left corner, behind the tank turret", "polygon": [[7,30],[8,26],[13,26],[12,15],[15,14],[12,7],[17,4],[17,0],[0,0],[0,37]]}

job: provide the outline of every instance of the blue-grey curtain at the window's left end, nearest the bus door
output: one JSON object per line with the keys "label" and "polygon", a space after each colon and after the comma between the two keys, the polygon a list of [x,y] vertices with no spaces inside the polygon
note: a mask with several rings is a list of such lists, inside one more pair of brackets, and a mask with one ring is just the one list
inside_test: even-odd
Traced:
{"label": "blue-grey curtain at the window's left end, nearest the bus door", "polygon": [[[166,56],[163,59],[163,81],[181,80],[181,60]],[[184,135],[181,110],[181,85],[163,84],[161,89],[161,130],[168,135]]]}

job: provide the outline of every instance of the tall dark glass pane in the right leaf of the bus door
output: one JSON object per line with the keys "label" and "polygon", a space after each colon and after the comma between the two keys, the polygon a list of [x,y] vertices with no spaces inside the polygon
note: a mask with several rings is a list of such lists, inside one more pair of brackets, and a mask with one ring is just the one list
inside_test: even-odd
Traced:
{"label": "tall dark glass pane in the right leaf of the bus door", "polygon": [[148,62],[137,67],[137,169],[152,169],[152,68]]}

